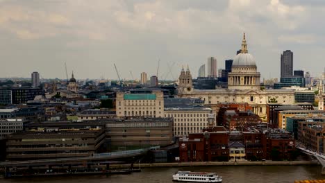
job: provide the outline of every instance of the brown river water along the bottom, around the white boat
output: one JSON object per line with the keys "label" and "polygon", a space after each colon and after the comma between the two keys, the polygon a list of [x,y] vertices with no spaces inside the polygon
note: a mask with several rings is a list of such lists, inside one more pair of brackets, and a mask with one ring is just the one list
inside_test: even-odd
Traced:
{"label": "brown river water along the bottom, around the white boat", "polygon": [[0,183],[163,183],[172,182],[176,171],[209,171],[223,177],[223,183],[265,182],[293,183],[294,180],[325,180],[321,166],[196,166],[182,168],[143,168],[131,175],[89,175],[75,177],[36,177],[4,179]]}

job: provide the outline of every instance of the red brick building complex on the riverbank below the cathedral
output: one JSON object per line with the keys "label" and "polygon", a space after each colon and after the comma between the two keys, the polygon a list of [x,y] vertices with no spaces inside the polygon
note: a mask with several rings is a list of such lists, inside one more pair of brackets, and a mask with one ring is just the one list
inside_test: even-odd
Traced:
{"label": "red brick building complex on the riverbank below the cathedral", "polygon": [[229,132],[217,127],[206,132],[190,133],[179,139],[181,162],[228,161],[233,149],[229,146],[238,142],[244,145],[244,159],[292,159],[295,141],[289,132],[278,129],[245,129],[243,132]]}

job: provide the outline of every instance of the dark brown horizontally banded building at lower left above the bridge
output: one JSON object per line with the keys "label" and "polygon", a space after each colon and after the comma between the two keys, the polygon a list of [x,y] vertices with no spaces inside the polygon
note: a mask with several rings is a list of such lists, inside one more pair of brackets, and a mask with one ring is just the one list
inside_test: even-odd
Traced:
{"label": "dark brown horizontally banded building at lower left above the bridge", "polygon": [[105,130],[26,131],[9,134],[6,159],[56,159],[89,157],[105,139]]}

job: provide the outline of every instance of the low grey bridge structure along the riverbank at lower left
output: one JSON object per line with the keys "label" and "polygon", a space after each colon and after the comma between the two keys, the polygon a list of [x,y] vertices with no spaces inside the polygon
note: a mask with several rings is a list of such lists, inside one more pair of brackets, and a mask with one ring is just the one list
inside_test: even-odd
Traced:
{"label": "low grey bridge structure along the riverbank at lower left", "polygon": [[0,162],[0,167],[14,167],[14,166],[49,166],[57,164],[76,164],[84,162],[103,162],[110,161],[110,163],[116,163],[117,160],[141,157],[147,155],[149,150],[159,149],[160,146],[153,146],[150,148],[142,148],[137,150],[124,150],[113,153],[95,153],[89,157],[67,157],[67,158],[56,158],[56,159],[35,159],[26,161],[10,161]]}

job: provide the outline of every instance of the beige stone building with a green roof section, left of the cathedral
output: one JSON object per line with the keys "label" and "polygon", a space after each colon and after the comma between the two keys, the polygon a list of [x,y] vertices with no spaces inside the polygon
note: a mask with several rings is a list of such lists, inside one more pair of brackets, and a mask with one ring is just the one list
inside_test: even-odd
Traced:
{"label": "beige stone building with a green roof section, left of the cathedral", "polygon": [[117,92],[116,115],[163,117],[163,92],[152,91],[151,94]]}

